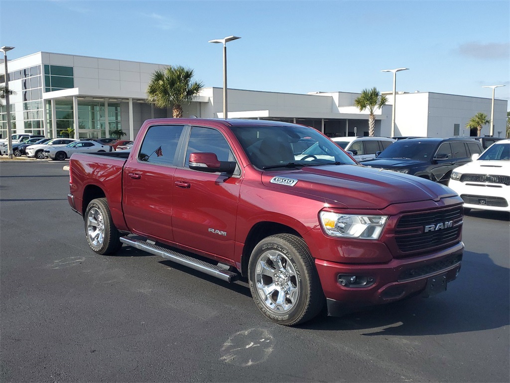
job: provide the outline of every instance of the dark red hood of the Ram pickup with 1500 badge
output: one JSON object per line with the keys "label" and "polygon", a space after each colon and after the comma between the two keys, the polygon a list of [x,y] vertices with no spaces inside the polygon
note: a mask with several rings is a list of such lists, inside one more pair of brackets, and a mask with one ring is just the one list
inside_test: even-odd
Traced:
{"label": "dark red hood of the Ram pickup with 1500 badge", "polygon": [[360,165],[264,172],[262,183],[286,193],[322,197],[327,203],[349,209],[384,209],[395,203],[456,196],[453,190],[436,182]]}

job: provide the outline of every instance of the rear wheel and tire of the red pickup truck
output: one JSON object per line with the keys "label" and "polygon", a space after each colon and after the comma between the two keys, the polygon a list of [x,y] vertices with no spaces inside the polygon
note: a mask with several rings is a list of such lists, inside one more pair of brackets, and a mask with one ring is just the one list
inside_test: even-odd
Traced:
{"label": "rear wheel and tire of the red pickup truck", "polygon": [[106,198],[92,200],[87,206],[85,237],[97,254],[113,254],[121,248],[120,233],[113,223]]}

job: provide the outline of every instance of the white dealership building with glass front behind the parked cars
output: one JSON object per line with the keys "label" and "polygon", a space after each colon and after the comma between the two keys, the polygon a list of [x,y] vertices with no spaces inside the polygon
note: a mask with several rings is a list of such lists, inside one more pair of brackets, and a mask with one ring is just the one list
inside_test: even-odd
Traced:
{"label": "white dealership building with glass front behind the parked cars", "polygon": [[[38,52],[8,61],[11,127],[13,133],[57,137],[68,128],[77,138],[109,137],[122,129],[136,137],[148,118],[171,117],[172,110],[146,102],[152,73],[168,64]],[[4,65],[0,84],[5,84]],[[385,92],[386,93],[386,92]],[[223,89],[204,88],[183,115],[223,117]],[[368,111],[354,100],[360,93],[308,94],[228,89],[228,117],[268,119],[308,125],[328,136],[368,135]],[[391,136],[393,94],[388,105],[375,112],[375,135]],[[491,115],[491,98],[434,92],[399,92],[396,95],[396,136],[469,136],[465,129],[478,112]],[[507,101],[494,102],[494,136],[503,137]],[[0,106],[0,124],[7,137],[6,106]],[[78,129],[76,129],[78,127]],[[481,135],[489,135],[490,127]],[[472,135],[475,135],[473,132]]]}

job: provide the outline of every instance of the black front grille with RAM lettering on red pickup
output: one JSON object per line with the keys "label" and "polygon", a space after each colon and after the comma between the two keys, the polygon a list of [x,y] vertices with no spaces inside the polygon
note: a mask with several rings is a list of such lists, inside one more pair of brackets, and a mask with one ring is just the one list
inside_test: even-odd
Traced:
{"label": "black front grille with RAM lettering on red pickup", "polygon": [[451,246],[460,241],[462,219],[462,206],[404,214],[395,230],[398,249],[409,254]]}

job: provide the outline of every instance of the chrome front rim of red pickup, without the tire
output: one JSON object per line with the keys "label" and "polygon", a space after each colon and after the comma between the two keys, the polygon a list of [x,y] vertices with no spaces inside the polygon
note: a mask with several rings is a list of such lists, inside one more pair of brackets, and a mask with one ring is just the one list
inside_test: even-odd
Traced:
{"label": "chrome front rim of red pickup, without the tire", "polygon": [[266,251],[258,259],[256,285],[262,302],[277,314],[287,313],[299,299],[296,270],[277,250]]}

